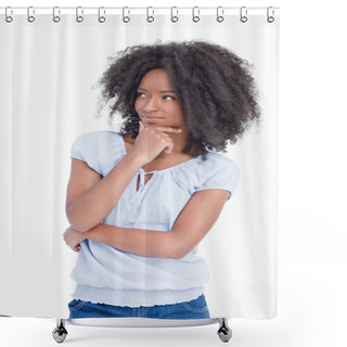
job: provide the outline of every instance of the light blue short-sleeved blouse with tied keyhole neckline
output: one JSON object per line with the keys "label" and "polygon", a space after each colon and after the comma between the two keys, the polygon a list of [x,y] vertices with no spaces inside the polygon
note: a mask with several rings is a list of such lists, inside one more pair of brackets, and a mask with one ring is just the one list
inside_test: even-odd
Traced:
{"label": "light blue short-sleeved blouse with tied keyhole neckline", "polygon": [[[104,130],[79,136],[70,156],[105,177],[126,154],[121,134]],[[239,181],[237,166],[221,154],[210,152],[206,157],[203,160],[198,156],[164,170],[139,169],[103,222],[169,232],[195,192],[221,189],[231,195]],[[153,174],[146,184],[145,174]],[[203,294],[209,274],[197,247],[182,259],[164,259],[138,256],[86,240],[72,278],[77,282],[75,299],[139,307],[195,299]]]}

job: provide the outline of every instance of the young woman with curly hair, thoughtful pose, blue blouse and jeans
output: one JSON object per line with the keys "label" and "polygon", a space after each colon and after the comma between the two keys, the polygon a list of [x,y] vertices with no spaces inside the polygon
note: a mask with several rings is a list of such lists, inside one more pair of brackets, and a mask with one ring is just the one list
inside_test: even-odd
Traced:
{"label": "young woman with curly hair, thoughtful pose, blue blouse and jeans", "polygon": [[101,79],[120,132],[72,149],[64,239],[79,253],[70,318],[209,318],[197,245],[236,188],[217,151],[259,117],[245,61],[217,44],[138,46]]}

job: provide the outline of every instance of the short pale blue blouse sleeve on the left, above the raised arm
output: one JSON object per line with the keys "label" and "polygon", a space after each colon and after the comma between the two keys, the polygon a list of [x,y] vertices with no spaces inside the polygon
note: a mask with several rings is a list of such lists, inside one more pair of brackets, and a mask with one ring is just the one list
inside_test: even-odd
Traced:
{"label": "short pale blue blouse sleeve on the left, above the raised arm", "polygon": [[124,154],[121,141],[121,136],[114,131],[82,133],[73,143],[70,157],[86,162],[98,174],[105,176]]}

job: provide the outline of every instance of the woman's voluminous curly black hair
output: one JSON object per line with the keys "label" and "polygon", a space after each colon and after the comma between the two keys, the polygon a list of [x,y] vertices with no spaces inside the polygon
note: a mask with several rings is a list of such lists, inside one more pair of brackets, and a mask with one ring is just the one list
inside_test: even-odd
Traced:
{"label": "woman's voluminous curly black hair", "polygon": [[137,89],[154,68],[167,72],[185,117],[190,131],[185,153],[223,152],[229,141],[235,143],[259,120],[258,92],[247,61],[204,41],[156,42],[118,52],[99,81],[104,102],[111,103],[111,120],[116,113],[124,118],[121,133],[137,137]]}

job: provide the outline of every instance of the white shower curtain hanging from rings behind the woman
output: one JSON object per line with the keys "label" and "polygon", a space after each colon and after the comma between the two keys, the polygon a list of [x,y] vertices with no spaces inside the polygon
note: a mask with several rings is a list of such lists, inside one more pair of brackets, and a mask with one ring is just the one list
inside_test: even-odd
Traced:
{"label": "white shower curtain hanging from rings behind the woman", "polygon": [[[79,254],[64,242],[72,145],[118,131],[98,81],[139,44],[205,41],[252,65],[259,124],[228,144],[237,189],[197,247],[211,318],[277,313],[279,9],[11,9],[0,16],[0,314],[68,318]],[[144,261],[144,267],[146,261]]]}

